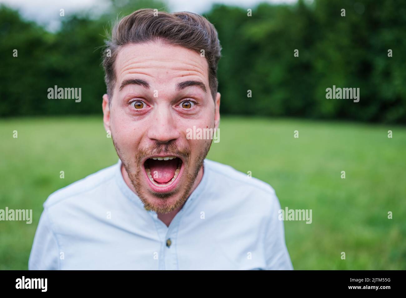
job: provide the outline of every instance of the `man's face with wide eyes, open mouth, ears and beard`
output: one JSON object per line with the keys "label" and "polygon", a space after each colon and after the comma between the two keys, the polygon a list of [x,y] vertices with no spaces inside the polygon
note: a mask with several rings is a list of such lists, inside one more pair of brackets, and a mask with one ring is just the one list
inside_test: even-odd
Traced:
{"label": "man's face with wide eyes, open mouth, ears and beard", "polygon": [[214,101],[207,61],[180,46],[127,45],[115,73],[110,105],[103,96],[105,128],[145,207],[175,210],[199,183],[212,142],[187,139],[187,130],[217,129],[220,120],[220,94]]}

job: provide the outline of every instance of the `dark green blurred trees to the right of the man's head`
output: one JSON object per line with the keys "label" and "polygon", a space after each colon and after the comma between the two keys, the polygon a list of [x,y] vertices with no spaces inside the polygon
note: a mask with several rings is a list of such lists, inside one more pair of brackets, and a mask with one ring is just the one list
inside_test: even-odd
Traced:
{"label": "dark green blurred trees to the right of the man's head", "polygon": [[[406,123],[405,5],[298,1],[246,14],[225,5],[206,14],[223,48],[223,112]],[[326,99],[333,85],[360,88],[360,102]]]}

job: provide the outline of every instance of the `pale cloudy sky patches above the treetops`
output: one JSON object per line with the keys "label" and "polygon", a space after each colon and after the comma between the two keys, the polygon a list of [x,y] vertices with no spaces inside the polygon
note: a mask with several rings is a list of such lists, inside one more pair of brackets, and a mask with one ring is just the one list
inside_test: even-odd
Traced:
{"label": "pale cloudy sky patches above the treetops", "polygon": [[[167,4],[169,11],[204,13],[214,3],[238,5],[248,9],[260,2],[293,3],[296,0],[163,0],[163,2]],[[19,9],[24,18],[36,21],[51,31],[59,26],[61,8],[65,10],[65,15],[70,11],[83,9],[91,9],[97,15],[108,9],[108,0],[0,0],[0,3]]]}

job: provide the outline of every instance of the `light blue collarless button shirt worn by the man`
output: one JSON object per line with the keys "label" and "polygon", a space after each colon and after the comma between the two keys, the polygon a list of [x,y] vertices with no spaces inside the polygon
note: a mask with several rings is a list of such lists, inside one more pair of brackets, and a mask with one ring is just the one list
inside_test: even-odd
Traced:
{"label": "light blue collarless button shirt worn by the man", "polygon": [[207,159],[203,169],[169,227],[127,186],[120,160],[56,191],[43,205],[28,268],[293,269],[274,189]]}

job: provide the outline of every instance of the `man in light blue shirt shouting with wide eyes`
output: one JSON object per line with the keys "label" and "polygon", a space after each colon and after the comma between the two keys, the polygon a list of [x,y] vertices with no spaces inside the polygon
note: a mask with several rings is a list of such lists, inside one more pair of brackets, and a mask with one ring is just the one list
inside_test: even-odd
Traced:
{"label": "man in light blue shirt shouting with wide eyes", "polygon": [[114,27],[102,107],[119,162],[48,197],[29,269],[293,269],[272,187],[187,133],[218,129],[220,49],[194,13]]}

